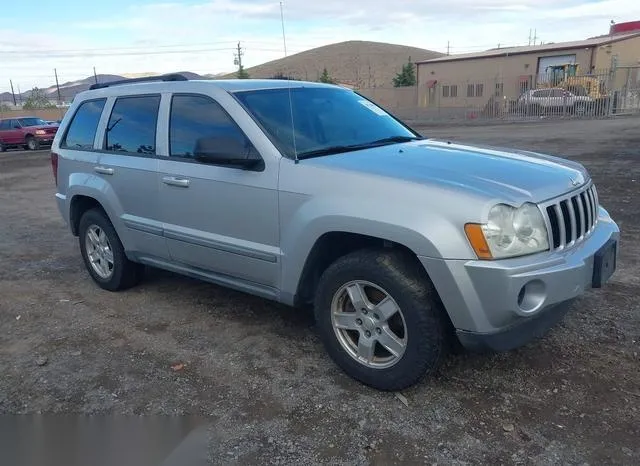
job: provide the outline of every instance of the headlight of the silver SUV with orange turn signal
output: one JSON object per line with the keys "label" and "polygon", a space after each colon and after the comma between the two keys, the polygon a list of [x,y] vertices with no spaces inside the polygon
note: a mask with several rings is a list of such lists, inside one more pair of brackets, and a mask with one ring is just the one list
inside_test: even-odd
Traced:
{"label": "headlight of the silver SUV with orange turn signal", "polygon": [[[467,224],[467,237],[481,259],[524,256],[549,249],[547,227],[535,204],[498,204],[483,225]],[[484,241],[483,241],[484,240]]]}

